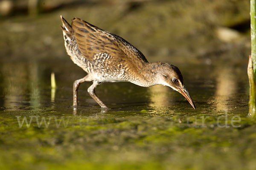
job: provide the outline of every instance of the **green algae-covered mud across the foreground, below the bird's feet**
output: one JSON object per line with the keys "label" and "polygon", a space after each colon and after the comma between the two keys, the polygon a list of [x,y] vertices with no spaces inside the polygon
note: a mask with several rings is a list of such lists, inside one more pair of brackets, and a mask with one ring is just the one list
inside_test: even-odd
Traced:
{"label": "green algae-covered mud across the foreground, below the bird's feet", "polygon": [[[20,119],[31,114],[21,112],[17,113],[22,115]],[[17,116],[2,112],[0,167],[215,169],[218,162],[229,162],[221,167],[255,168],[256,125],[252,119],[234,119],[233,126],[233,115],[222,115],[218,125],[216,115],[150,116],[149,111],[146,116],[135,112],[137,116],[125,117],[118,112],[90,116],[42,113],[38,119],[44,117],[49,123],[41,127],[36,119],[29,127],[19,127]]]}

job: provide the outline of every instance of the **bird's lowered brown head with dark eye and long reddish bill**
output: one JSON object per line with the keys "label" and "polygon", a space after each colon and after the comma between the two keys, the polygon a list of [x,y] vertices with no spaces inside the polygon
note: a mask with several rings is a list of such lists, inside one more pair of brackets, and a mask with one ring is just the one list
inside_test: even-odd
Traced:
{"label": "bird's lowered brown head with dark eye and long reddish bill", "polygon": [[162,63],[157,73],[158,84],[166,85],[182,94],[195,109],[195,104],[184,86],[182,74],[175,65]]}

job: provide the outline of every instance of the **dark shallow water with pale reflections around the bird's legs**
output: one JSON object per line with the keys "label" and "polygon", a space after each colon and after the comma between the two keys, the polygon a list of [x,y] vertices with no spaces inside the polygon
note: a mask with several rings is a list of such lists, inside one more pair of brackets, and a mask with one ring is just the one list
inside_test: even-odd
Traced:
{"label": "dark shallow water with pale reflections around the bird's legs", "polygon": [[[5,62],[1,65],[1,110],[2,111],[60,111],[69,113],[73,108],[73,81],[86,73],[70,62],[58,61],[58,66],[40,62]],[[190,116],[198,113],[239,113],[246,115],[248,82],[245,66],[225,66],[221,64],[179,64],[188,89],[197,109],[194,110],[179,93],[169,87],[155,85],[143,88],[128,82],[103,83],[96,88],[102,101],[116,111],[147,110],[161,114],[182,114]],[[50,74],[57,67],[55,77],[57,89],[50,87]],[[221,67],[221,71],[220,71]],[[68,69],[67,69],[68,68]],[[100,111],[99,106],[87,94],[91,82],[79,87],[79,107],[77,112]],[[66,110],[67,109],[67,110]],[[209,110],[207,110],[209,109]]]}

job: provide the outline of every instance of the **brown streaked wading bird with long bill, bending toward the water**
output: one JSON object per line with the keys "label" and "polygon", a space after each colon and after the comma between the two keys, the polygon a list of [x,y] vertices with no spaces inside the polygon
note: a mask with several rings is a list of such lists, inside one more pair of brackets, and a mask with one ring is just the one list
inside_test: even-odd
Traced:
{"label": "brown streaked wading bird with long bill, bending toward the water", "polygon": [[195,109],[186,90],[183,76],[175,65],[148,62],[128,41],[77,17],[71,25],[61,17],[64,45],[71,60],[87,75],[73,83],[73,106],[78,105],[78,88],[83,82],[93,82],[87,89],[99,106],[108,107],[96,95],[95,88],[103,82],[131,82],[142,87],[164,85],[182,94]]}

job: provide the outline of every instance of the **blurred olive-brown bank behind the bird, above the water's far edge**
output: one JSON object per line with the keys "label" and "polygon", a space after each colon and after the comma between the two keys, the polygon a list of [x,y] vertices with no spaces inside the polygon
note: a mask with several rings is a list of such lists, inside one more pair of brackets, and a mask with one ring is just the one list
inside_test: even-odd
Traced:
{"label": "blurred olive-brown bank behind the bird, above the water's far edge", "polygon": [[64,58],[62,15],[118,34],[152,60],[210,63],[218,54],[240,62],[222,54],[249,54],[249,7],[247,0],[1,0],[0,52]]}

